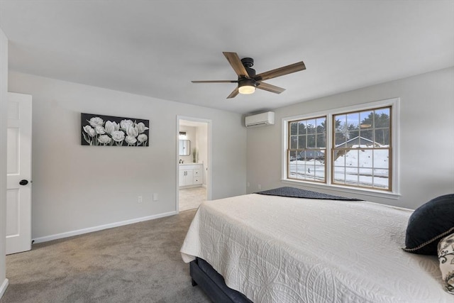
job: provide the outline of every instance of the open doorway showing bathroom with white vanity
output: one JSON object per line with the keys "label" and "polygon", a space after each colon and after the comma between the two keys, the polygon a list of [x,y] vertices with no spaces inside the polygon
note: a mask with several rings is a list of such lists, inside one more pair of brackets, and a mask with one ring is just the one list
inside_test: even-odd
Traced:
{"label": "open doorway showing bathroom with white vanity", "polygon": [[211,120],[177,116],[177,210],[211,199]]}

